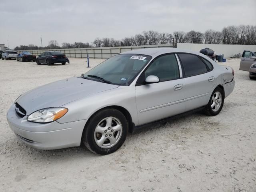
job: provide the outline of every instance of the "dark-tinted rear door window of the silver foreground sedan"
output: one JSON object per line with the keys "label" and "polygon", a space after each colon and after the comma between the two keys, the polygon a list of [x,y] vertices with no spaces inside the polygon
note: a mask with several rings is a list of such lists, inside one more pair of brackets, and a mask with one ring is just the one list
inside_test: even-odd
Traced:
{"label": "dark-tinted rear door window of the silver foreground sedan", "polygon": [[186,77],[207,72],[206,65],[198,56],[182,53],[178,55],[184,68],[184,73]]}

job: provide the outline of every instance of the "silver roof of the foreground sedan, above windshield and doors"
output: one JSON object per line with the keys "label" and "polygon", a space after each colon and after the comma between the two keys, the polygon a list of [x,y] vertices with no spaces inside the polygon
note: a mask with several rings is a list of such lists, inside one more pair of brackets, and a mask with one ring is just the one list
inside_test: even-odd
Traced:
{"label": "silver roof of the foreground sedan, above windshield and doors", "polygon": [[168,47],[156,47],[156,48],[143,48],[143,49],[136,49],[132,51],[123,52],[120,54],[142,54],[142,55],[149,55],[154,57],[157,57],[162,54],[166,53],[191,53],[196,55],[203,55],[199,51],[191,51],[191,50],[184,50],[184,49],[178,49],[178,48],[168,48]]}

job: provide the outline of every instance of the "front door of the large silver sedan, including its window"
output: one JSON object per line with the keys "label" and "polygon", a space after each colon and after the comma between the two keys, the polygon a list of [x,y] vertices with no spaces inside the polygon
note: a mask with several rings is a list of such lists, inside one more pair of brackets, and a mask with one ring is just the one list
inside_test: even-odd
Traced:
{"label": "front door of the large silver sedan, including its window", "polygon": [[[160,82],[145,84],[149,75]],[[183,79],[175,54],[154,59],[142,72],[136,84],[138,124],[146,124],[184,112]]]}

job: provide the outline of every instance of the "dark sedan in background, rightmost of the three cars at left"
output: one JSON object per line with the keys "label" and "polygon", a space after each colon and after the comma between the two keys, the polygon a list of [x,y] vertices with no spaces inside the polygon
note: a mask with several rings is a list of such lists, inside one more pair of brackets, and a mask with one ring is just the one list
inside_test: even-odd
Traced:
{"label": "dark sedan in background, rightmost of the three cars at left", "polygon": [[56,51],[43,52],[41,55],[38,55],[38,58],[36,59],[36,63],[38,65],[40,64],[53,65],[54,63],[61,63],[62,65],[65,65],[66,62],[69,63],[69,60],[66,57],[66,55]]}

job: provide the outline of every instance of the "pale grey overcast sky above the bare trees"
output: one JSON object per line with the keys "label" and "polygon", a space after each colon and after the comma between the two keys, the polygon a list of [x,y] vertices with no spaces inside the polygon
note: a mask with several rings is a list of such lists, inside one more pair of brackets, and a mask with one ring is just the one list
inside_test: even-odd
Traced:
{"label": "pale grey overcast sky above the bare trees", "polygon": [[144,30],[172,33],[256,24],[256,0],[0,0],[0,44],[121,40]]}

